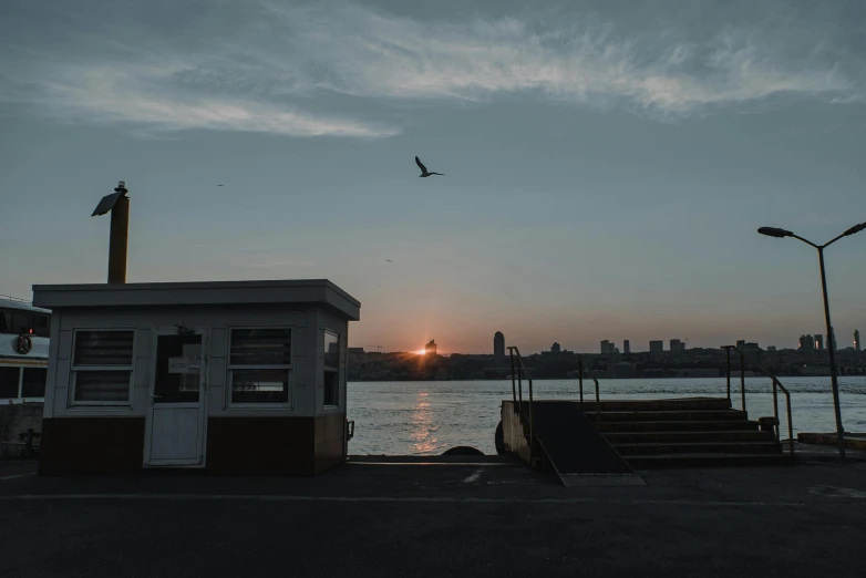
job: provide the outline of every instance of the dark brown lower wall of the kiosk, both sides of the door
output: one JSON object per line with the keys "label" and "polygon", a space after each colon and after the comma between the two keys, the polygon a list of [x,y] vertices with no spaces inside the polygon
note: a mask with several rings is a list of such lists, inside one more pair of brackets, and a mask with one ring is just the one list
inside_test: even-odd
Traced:
{"label": "dark brown lower wall of the kiosk, both sides of the door", "polygon": [[[346,414],[209,417],[206,471],[311,476],[346,461]],[[144,417],[54,417],[42,422],[41,475],[133,474],[144,461]]]}

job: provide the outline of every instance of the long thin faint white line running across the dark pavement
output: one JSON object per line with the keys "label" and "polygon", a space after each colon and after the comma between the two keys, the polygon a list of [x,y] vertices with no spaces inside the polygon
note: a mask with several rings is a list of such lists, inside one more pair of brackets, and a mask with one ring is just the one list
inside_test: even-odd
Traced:
{"label": "long thin faint white line running across the dark pavement", "polygon": [[683,506],[683,507],[808,507],[828,505],[853,506],[842,502],[719,502],[699,499],[605,499],[573,498],[484,498],[453,496],[295,496],[260,494],[18,494],[0,495],[0,502],[61,502],[61,500],[138,500],[138,502],[358,502],[358,503],[417,503],[417,504],[607,504],[622,506]]}

